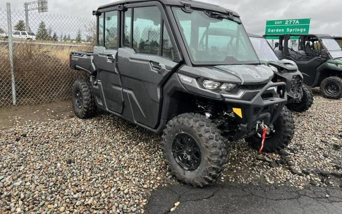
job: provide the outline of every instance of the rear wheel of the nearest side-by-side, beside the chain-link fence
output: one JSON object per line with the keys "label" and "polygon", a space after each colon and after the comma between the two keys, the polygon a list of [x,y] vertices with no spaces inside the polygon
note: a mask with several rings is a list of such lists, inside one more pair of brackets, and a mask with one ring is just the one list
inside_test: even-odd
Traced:
{"label": "rear wheel of the nearest side-by-side, beside the chain-link fence", "polygon": [[72,108],[78,118],[90,118],[96,113],[96,103],[90,82],[76,80],[72,85]]}

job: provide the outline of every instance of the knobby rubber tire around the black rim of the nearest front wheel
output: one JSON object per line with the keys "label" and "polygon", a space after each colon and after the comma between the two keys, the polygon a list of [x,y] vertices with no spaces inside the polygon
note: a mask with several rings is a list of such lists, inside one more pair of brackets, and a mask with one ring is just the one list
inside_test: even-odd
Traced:
{"label": "knobby rubber tire around the black rim of the nearest front wheel", "polygon": [[[191,136],[201,151],[201,161],[194,170],[186,170],[177,163],[173,145],[178,134]],[[224,139],[217,127],[200,114],[186,113],[168,122],[162,136],[164,158],[178,180],[195,187],[213,183],[220,175],[226,160]]]}

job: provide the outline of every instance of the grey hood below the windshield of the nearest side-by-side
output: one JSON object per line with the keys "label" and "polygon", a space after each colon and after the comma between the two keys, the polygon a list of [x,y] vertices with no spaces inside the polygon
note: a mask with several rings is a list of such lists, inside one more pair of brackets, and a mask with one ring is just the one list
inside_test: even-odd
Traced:
{"label": "grey hood below the windshield of the nearest side-by-side", "polygon": [[273,71],[266,65],[217,65],[211,67],[183,66],[179,73],[208,80],[252,85],[269,83],[273,78]]}

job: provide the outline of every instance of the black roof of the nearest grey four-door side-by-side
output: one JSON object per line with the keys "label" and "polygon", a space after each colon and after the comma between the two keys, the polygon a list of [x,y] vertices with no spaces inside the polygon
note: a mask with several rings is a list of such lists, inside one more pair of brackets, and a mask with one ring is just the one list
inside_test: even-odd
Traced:
{"label": "black roof of the nearest grey four-door side-by-side", "polygon": [[192,0],[119,0],[117,2],[113,2],[107,5],[100,6],[98,10],[105,9],[105,8],[110,8],[113,6],[117,5],[125,5],[129,3],[142,3],[142,2],[160,2],[163,5],[172,5],[172,6],[184,6],[184,5],[189,5],[192,8],[198,8],[198,9],[204,9],[204,10],[210,10],[210,11],[216,11],[220,13],[233,13],[234,16],[240,17],[239,14],[235,11],[222,8],[217,5],[212,5],[209,3],[204,3],[204,2],[197,2],[197,1],[192,1]]}

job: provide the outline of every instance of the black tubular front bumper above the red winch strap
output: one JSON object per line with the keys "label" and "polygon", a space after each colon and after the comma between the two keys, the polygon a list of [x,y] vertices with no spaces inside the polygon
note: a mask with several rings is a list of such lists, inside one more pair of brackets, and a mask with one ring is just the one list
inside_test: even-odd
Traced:
{"label": "black tubular front bumper above the red winch strap", "polygon": [[[282,91],[279,97],[264,98],[265,92],[273,87]],[[239,140],[255,134],[258,131],[256,130],[258,122],[270,125],[276,121],[287,102],[286,83],[269,83],[248,100],[230,98],[224,94],[222,97],[232,108],[241,109],[242,114],[235,116],[240,123],[240,129],[233,136],[233,140]]]}

